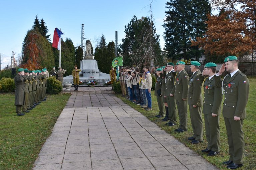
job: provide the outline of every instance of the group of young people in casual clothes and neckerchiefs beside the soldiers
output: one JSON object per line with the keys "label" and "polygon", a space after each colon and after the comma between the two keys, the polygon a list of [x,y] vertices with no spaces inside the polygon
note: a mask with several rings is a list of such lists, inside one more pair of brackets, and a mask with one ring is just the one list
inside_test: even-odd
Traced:
{"label": "group of young people in casual clothes and neckerchiefs beside the soldiers", "polygon": [[122,67],[120,73],[122,96],[147,111],[152,110],[152,77],[149,67],[145,66],[142,73],[140,73],[139,67],[135,67],[135,69]]}

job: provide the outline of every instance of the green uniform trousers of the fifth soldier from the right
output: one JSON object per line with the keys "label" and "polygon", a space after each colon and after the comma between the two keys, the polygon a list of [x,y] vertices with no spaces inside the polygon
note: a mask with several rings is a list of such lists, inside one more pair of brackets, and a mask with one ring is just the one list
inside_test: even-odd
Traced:
{"label": "green uniform trousers of the fifth soldier from the right", "polygon": [[168,106],[168,117],[171,123],[175,123],[177,120],[177,109],[176,100],[173,96],[166,96],[167,106]]}

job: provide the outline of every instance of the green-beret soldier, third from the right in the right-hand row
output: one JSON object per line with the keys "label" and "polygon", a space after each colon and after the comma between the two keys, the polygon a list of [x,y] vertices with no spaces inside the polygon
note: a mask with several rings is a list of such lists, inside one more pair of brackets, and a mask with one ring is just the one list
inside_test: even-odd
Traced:
{"label": "green-beret soldier, third from the right in the right-hand row", "polygon": [[190,70],[193,74],[189,78],[188,106],[194,134],[192,137],[189,137],[188,140],[192,140],[192,144],[197,144],[203,141],[203,97],[201,94],[202,82],[199,81],[199,75],[202,74],[199,70],[200,65],[201,64],[197,61],[191,61],[190,64]]}

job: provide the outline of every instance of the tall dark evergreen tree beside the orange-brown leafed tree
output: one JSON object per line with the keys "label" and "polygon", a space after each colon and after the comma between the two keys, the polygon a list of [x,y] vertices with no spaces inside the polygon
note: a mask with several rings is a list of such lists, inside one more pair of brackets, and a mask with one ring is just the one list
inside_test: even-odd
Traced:
{"label": "tall dark evergreen tree beside the orange-brown leafed tree", "polygon": [[206,31],[207,13],[211,12],[209,0],[169,0],[166,3],[165,50],[168,58],[189,59],[201,55],[198,47],[191,49],[191,40]]}

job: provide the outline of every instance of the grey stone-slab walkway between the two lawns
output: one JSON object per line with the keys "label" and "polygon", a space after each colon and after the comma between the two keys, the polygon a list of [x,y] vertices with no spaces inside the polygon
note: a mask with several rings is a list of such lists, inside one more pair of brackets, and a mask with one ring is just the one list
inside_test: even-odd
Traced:
{"label": "grey stone-slab walkway between the two lawns", "polygon": [[73,94],[34,164],[34,170],[217,169],[109,93]]}

